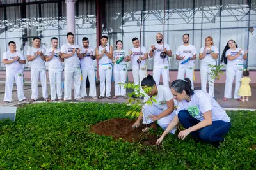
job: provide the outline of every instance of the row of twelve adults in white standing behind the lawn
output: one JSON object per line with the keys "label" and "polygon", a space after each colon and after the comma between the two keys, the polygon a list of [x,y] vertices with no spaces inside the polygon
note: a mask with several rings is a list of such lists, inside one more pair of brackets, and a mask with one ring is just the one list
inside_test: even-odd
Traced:
{"label": "row of twelve adults in white standing behind the lawn", "polygon": [[[191,80],[191,88],[194,89],[193,73],[195,67],[196,48],[189,43],[189,34],[182,36],[183,44],[176,50],[176,59],[179,60],[179,69],[177,79],[184,79],[186,77]],[[143,78],[147,76],[146,60],[154,60],[153,77],[156,85],[159,85],[160,76],[163,78],[163,85],[169,87],[169,61],[172,50],[170,45],[163,42],[163,35],[158,33],[156,35],[156,43],[154,43],[149,52],[144,46],[140,46],[138,38],[132,39],[134,47],[125,52],[123,42],[116,41],[116,50],[108,45],[108,37],[102,36],[101,45],[94,48],[89,46],[89,39],[84,37],[82,39],[83,46],[74,43],[74,34],[67,33],[67,43],[58,48],[58,39],[53,37],[51,39],[51,46],[45,50],[42,48],[41,39],[36,37],[33,39],[33,46],[27,51],[27,60],[31,62],[31,101],[38,99],[38,78],[42,85],[42,96],[45,101],[49,101],[47,94],[47,78],[45,62],[49,62],[49,81],[51,88],[51,101],[70,101],[72,92],[72,83],[74,83],[74,99],[77,101],[84,101],[86,94],[86,78],[90,82],[90,97],[93,99],[102,99],[105,96],[111,99],[111,78],[112,74],[115,81],[115,96],[122,96],[127,98],[126,90],[120,84],[126,83],[127,80],[127,64],[132,62],[132,75],[135,85],[140,85]],[[12,101],[12,88],[14,80],[17,83],[17,93],[19,101],[26,100],[23,92],[23,69],[22,64],[26,63],[25,57],[22,53],[16,50],[15,42],[8,43],[9,50],[3,54],[3,64],[6,65],[6,86],[4,102]],[[239,87],[241,85],[241,78],[243,75],[243,60],[247,59],[247,52],[238,48],[236,42],[228,41],[223,54],[221,55],[221,62],[227,64],[226,69],[226,85],[223,101],[232,98],[232,82],[236,77],[236,87],[234,98],[241,100],[238,95]],[[210,65],[216,65],[219,51],[213,44],[212,37],[205,38],[205,46],[200,49],[200,74],[202,90],[207,92],[207,82],[209,83],[209,95],[214,97],[214,78],[207,74],[211,72]],[[99,80],[100,80],[100,95],[96,94],[95,83],[95,60],[99,60]],[[63,80],[63,64],[64,62],[64,98],[62,98],[62,80]],[[82,76],[81,76],[82,75]],[[106,81],[106,88],[105,88]],[[105,90],[106,89],[106,90]],[[105,95],[106,94],[106,95]],[[57,97],[56,97],[57,96]]]}

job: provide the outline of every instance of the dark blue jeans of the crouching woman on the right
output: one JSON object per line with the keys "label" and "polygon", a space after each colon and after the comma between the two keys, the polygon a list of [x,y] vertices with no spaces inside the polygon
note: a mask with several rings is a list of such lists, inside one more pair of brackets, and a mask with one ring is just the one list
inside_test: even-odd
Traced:
{"label": "dark blue jeans of the crouching woman on the right", "polygon": [[[193,118],[189,114],[188,110],[180,110],[178,117],[180,124],[182,124],[186,129],[200,122],[196,118]],[[191,132],[191,135],[207,143],[221,142],[224,140],[223,135],[228,133],[230,127],[230,122],[224,122],[221,120],[212,121],[211,125]]]}

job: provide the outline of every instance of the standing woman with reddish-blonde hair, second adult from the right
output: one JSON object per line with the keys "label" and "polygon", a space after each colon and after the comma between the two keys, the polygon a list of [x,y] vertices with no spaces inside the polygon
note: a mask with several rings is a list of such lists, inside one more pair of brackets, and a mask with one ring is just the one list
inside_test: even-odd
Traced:
{"label": "standing woman with reddish-blonde hair, second adult from the right", "polygon": [[216,46],[213,45],[213,38],[211,36],[205,38],[205,46],[200,49],[199,59],[200,59],[200,74],[201,74],[201,90],[207,92],[207,82],[209,84],[209,94],[214,97],[214,78],[211,78],[212,69],[209,64],[217,64],[216,59],[218,59],[219,51]]}

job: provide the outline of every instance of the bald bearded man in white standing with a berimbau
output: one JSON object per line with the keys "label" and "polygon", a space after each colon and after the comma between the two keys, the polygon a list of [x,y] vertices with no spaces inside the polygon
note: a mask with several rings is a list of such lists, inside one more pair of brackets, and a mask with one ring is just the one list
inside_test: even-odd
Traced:
{"label": "bald bearded man in white standing with a berimbau", "polygon": [[[150,59],[154,58],[153,78],[156,81],[156,85],[159,85],[162,74],[164,86],[169,87],[168,56],[172,56],[172,50],[168,44],[163,42],[163,34],[156,34],[156,41],[157,43],[151,46],[151,50],[148,53]],[[161,53],[165,53],[165,57]]]}

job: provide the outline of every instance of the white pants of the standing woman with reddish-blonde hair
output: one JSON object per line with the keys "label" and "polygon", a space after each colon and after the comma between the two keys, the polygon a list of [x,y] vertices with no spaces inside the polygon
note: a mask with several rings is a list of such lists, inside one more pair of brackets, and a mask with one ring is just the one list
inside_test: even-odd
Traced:
{"label": "white pants of the standing woman with reddish-blonde hair", "polygon": [[214,97],[214,78],[211,78],[211,75],[207,75],[207,73],[211,73],[211,70],[214,70],[216,68],[211,68],[208,66],[208,64],[211,65],[216,65],[216,62],[201,62],[200,63],[200,74],[201,74],[201,90],[204,92],[207,92],[206,87],[207,87],[207,82],[209,85],[209,94],[210,96]]}

